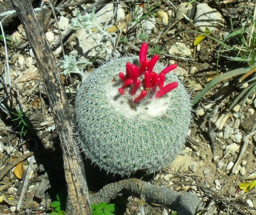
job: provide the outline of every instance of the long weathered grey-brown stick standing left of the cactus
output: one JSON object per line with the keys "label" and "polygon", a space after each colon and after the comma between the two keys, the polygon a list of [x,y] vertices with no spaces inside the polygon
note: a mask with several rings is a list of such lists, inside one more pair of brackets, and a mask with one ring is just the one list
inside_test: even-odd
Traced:
{"label": "long weathered grey-brown stick standing left of the cactus", "polygon": [[66,212],[67,214],[91,214],[85,170],[77,149],[70,105],[58,73],[55,57],[31,2],[29,0],[12,0],[12,4],[37,59],[37,67],[50,100],[53,119],[60,137],[68,191]]}

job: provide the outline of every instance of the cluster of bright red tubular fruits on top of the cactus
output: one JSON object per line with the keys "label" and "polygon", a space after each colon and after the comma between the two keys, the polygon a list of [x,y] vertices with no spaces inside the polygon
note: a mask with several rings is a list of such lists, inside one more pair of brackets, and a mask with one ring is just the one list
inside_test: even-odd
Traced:
{"label": "cluster of bright red tubular fruits on top of the cactus", "polygon": [[[124,89],[131,85],[130,94],[134,96],[140,86],[143,88],[139,96],[134,99],[134,103],[139,103],[145,99],[147,94],[154,95],[155,98],[161,98],[178,86],[178,82],[173,82],[164,86],[165,75],[177,68],[177,64],[166,66],[159,74],[154,70],[154,66],[159,60],[159,55],[154,55],[151,60],[147,59],[147,43],[142,43],[139,54],[140,66],[126,63],[126,74],[120,72],[119,78],[122,81],[122,87],[119,93],[124,95]],[[140,78],[141,77],[141,78]],[[140,79],[139,79],[140,78]],[[158,88],[157,88],[158,87]],[[157,91],[157,89],[159,89]]]}

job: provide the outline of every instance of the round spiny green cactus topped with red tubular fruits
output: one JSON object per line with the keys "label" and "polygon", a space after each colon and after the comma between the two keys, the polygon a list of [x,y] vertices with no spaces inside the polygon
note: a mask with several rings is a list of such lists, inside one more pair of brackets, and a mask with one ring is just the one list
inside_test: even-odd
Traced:
{"label": "round spiny green cactus topped with red tubular fruits", "polygon": [[[190,122],[190,99],[159,56],[124,57],[95,69],[76,98],[78,143],[107,172],[161,170],[179,155]],[[177,68],[179,69],[179,68]]]}

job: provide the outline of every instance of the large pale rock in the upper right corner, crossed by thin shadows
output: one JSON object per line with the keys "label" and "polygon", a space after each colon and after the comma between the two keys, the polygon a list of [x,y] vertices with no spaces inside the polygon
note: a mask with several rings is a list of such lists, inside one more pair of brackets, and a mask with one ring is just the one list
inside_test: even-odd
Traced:
{"label": "large pale rock in the upper right corner, crossed by thin shadows", "polygon": [[207,27],[210,32],[224,27],[224,18],[206,3],[200,3],[196,6],[196,14],[194,18],[194,26],[204,32]]}

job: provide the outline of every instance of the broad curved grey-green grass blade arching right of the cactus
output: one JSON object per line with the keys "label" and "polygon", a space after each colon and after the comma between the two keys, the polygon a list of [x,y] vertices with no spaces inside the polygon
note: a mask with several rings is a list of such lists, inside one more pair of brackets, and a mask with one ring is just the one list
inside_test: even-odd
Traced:
{"label": "broad curved grey-green grass blade arching right of the cactus", "polygon": [[201,99],[214,85],[218,84],[220,81],[232,78],[240,74],[247,73],[247,71],[249,71],[250,69],[251,67],[239,68],[232,71],[228,71],[228,73],[219,75],[218,77],[213,79],[207,86],[205,86],[205,88],[200,93],[198,93],[198,95],[195,96],[195,98],[191,101],[191,104],[195,105],[199,101],[199,99]]}

